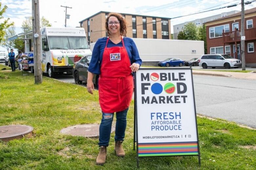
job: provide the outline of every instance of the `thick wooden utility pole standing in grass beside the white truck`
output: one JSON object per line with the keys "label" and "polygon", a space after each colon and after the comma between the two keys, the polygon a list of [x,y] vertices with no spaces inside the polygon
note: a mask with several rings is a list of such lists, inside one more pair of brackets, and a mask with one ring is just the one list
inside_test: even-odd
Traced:
{"label": "thick wooden utility pole standing in grass beside the white truck", "polygon": [[34,76],[35,84],[42,83],[42,63],[41,63],[41,33],[40,33],[40,16],[39,0],[32,0],[32,28],[34,44]]}

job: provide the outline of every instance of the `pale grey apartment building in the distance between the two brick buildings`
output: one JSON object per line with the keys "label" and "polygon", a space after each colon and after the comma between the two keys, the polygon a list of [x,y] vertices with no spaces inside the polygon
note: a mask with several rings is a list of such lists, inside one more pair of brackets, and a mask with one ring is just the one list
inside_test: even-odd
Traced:
{"label": "pale grey apartment building in the distance between the two brick buildings", "polygon": [[221,14],[213,15],[213,16],[210,16],[210,17],[200,18],[200,19],[196,19],[196,20],[193,20],[193,21],[188,21],[188,22],[184,22],[184,23],[181,23],[181,24],[173,25],[173,38],[174,38],[174,40],[178,39],[179,32],[183,30],[184,25],[186,25],[187,23],[194,23],[197,26],[201,26],[201,25],[203,25],[203,23],[213,21],[213,20],[216,20],[216,19],[219,19],[219,18],[223,18],[223,17],[226,17],[228,15],[232,15],[232,14],[235,14],[235,13],[238,13],[238,12],[240,12],[240,11],[234,10],[234,11],[230,11],[230,12],[223,12]]}

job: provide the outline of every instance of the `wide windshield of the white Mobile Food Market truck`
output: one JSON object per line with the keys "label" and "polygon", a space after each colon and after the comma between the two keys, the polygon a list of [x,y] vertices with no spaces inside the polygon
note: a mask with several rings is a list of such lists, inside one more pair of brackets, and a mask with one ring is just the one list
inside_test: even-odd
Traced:
{"label": "wide windshield of the white Mobile Food Market truck", "polygon": [[50,49],[89,49],[85,37],[48,36]]}

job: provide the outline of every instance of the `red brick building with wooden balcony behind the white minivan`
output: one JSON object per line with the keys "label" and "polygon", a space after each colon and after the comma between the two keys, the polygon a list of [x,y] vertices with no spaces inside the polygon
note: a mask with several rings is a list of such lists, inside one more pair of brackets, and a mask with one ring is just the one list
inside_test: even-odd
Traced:
{"label": "red brick building with wooden balcony behind the white minivan", "polygon": [[[241,12],[206,22],[208,54],[229,54],[241,59]],[[256,8],[245,10],[245,62],[256,66]]]}

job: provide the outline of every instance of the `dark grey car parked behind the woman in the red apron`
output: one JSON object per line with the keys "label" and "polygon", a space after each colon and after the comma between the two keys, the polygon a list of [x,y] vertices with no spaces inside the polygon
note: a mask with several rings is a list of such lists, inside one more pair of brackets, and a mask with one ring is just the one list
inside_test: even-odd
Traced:
{"label": "dark grey car parked behind the woman in the red apron", "polygon": [[[73,66],[73,77],[75,79],[75,84],[82,84],[82,81],[87,82],[88,68],[90,65],[92,56],[85,56],[79,61],[74,63]],[[94,75],[93,83],[98,86],[99,75]]]}

